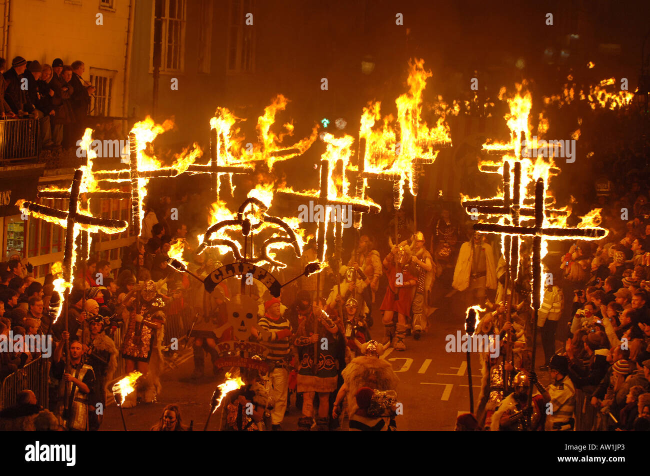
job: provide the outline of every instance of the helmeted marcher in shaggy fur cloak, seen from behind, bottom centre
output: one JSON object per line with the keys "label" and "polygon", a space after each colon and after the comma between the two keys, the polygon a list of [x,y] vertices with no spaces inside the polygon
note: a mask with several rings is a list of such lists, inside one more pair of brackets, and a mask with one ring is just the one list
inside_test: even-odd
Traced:
{"label": "helmeted marcher in shaggy fur cloak, seen from behind, bottom centre", "polygon": [[399,379],[390,362],[383,360],[386,347],[374,340],[361,346],[363,355],[343,369],[343,386],[336,395],[332,416],[341,414],[347,397],[350,430],[395,431],[396,389]]}

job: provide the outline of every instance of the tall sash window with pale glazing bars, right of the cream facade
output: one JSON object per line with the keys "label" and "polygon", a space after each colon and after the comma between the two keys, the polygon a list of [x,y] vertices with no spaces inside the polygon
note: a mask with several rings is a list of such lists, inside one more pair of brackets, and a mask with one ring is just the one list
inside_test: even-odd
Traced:
{"label": "tall sash window with pale glazing bars, right of the cream facade", "polygon": [[185,0],[155,0],[153,8],[151,69],[153,71],[153,40],[159,36],[161,38],[160,71],[183,71]]}

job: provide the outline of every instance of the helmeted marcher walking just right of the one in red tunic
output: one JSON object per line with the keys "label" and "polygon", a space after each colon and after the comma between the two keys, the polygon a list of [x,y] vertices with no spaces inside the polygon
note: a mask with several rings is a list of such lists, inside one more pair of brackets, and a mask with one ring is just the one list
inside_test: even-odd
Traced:
{"label": "helmeted marcher walking just right of the one in red tunic", "polygon": [[429,293],[434,284],[435,270],[431,255],[424,246],[424,234],[418,231],[413,235],[411,245],[413,266],[415,268],[415,296],[411,304],[413,313],[413,338],[418,340],[422,332],[426,332],[428,318]]}

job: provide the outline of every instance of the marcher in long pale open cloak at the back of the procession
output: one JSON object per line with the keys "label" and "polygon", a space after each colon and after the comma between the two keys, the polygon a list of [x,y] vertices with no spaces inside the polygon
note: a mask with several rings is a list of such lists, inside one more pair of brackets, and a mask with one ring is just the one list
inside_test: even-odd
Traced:
{"label": "marcher in long pale open cloak at the back of the procession", "polygon": [[483,241],[479,232],[474,232],[471,240],[460,247],[452,287],[465,292],[464,309],[484,304],[487,290],[497,288],[492,247]]}

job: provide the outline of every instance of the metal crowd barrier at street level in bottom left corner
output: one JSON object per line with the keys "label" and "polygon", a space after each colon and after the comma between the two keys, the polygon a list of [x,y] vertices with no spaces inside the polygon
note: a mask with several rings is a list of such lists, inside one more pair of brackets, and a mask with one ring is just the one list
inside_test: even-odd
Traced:
{"label": "metal crowd barrier at street level in bottom left corner", "polygon": [[49,358],[37,357],[26,366],[8,375],[0,389],[0,408],[16,404],[19,392],[31,390],[38,405],[47,408],[49,404]]}

